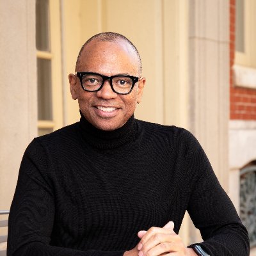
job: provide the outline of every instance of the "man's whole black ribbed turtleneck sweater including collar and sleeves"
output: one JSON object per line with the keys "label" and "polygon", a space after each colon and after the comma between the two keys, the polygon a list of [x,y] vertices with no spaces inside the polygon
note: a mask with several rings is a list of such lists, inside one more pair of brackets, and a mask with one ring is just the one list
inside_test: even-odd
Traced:
{"label": "man's whole black ribbed turtleneck sweater including collar and sleeves", "polygon": [[246,229],[190,132],[134,116],[105,132],[82,116],[26,149],[8,255],[121,256],[139,230],[172,220],[178,233],[186,210],[210,255],[248,255]]}

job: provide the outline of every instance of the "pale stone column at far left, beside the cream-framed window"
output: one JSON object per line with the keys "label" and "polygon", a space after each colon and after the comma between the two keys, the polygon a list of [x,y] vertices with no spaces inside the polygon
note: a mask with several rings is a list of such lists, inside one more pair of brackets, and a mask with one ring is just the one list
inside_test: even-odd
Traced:
{"label": "pale stone column at far left, beside the cream-framed window", "polygon": [[35,0],[0,1],[0,13],[0,209],[8,210],[36,136]]}

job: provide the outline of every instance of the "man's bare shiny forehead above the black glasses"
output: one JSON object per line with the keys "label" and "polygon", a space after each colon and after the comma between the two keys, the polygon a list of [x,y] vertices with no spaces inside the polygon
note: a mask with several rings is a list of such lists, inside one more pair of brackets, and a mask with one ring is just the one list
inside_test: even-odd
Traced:
{"label": "man's bare shiny forehead above the black glasses", "polygon": [[77,71],[138,76],[139,63],[136,52],[127,42],[92,41],[84,47]]}

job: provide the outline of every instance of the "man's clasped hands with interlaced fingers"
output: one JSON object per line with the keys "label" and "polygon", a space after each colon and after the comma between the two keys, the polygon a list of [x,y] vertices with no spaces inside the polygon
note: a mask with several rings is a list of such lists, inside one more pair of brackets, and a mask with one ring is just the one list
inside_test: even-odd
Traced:
{"label": "man's clasped hands with interlaced fingers", "polygon": [[187,248],[179,235],[173,231],[174,223],[168,222],[163,228],[151,227],[138,232],[140,243],[124,256],[196,256]]}

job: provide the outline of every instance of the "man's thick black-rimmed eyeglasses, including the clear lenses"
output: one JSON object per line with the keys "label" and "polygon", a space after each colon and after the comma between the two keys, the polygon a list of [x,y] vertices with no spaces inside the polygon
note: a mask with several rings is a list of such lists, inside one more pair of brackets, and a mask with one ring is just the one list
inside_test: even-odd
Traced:
{"label": "man's thick black-rimmed eyeglasses, including the clear lenses", "polygon": [[118,94],[129,94],[134,85],[139,81],[139,77],[128,75],[103,76],[93,72],[76,72],[81,86],[86,92],[99,91],[106,80],[109,80],[111,89]]}

